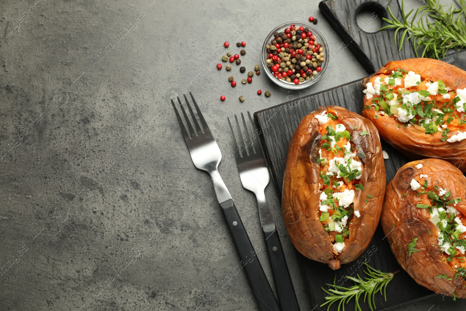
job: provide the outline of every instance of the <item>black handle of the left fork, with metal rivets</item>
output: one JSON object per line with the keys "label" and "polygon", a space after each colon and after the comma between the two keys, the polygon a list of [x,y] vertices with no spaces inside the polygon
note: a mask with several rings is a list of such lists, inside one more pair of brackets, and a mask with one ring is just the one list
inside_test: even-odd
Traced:
{"label": "black handle of the left fork, with metal rivets", "polygon": [[[246,229],[243,226],[240,215],[236,210],[233,200],[221,202],[223,214],[225,215],[226,223],[230,228],[233,241],[240,255],[240,264],[234,270],[238,272],[244,268],[247,280],[251,285],[251,291],[254,294],[257,306],[260,311],[280,311],[274,292],[268,283],[264,270],[260,265],[259,258],[256,252],[260,251],[260,247],[253,248],[253,244],[249,240]],[[259,248],[259,249],[257,249]]]}

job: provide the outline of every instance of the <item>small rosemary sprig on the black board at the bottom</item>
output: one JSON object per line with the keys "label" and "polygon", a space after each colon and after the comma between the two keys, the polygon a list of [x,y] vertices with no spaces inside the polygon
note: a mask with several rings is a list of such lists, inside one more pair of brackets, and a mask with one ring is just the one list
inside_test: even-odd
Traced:
{"label": "small rosemary sprig on the black board at the bottom", "polygon": [[[362,294],[364,294],[364,303],[367,302],[369,303],[370,310],[374,310],[376,308],[375,306],[375,294],[377,292],[380,292],[385,298],[385,301],[387,300],[387,297],[385,295],[385,289],[388,285],[388,283],[391,281],[393,276],[397,274],[399,271],[396,271],[394,273],[384,273],[381,272],[380,270],[375,270],[372,268],[370,265],[364,262],[364,265],[366,266],[366,271],[364,271],[369,277],[364,277],[364,280],[361,278],[361,276],[357,275],[356,277],[352,276],[346,276],[346,278],[352,280],[355,285],[351,287],[343,287],[343,286],[338,286],[335,284],[335,279],[333,281],[333,284],[327,284],[331,287],[332,289],[325,290],[322,287],[322,290],[325,291],[329,296],[325,297],[325,300],[327,300],[325,303],[321,304],[321,307],[328,304],[327,311],[329,310],[330,306],[337,302],[338,303],[338,311],[340,311],[340,307],[343,306],[343,311],[345,310],[344,304],[347,304],[351,298],[355,297],[355,306],[354,310],[357,311],[362,311],[361,307],[359,305],[359,297],[361,297]],[[336,276],[335,276],[336,277]]]}

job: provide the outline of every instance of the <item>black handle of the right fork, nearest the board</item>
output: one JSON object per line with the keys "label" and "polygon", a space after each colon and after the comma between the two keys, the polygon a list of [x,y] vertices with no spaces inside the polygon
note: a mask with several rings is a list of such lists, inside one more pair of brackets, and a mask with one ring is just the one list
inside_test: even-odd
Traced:
{"label": "black handle of the right fork, nearest the board", "polygon": [[298,300],[296,299],[295,288],[291,282],[291,276],[288,271],[285,255],[281,247],[280,237],[278,236],[275,224],[262,227],[264,238],[267,245],[268,258],[274,274],[275,288],[277,289],[278,301],[281,310],[299,311]]}

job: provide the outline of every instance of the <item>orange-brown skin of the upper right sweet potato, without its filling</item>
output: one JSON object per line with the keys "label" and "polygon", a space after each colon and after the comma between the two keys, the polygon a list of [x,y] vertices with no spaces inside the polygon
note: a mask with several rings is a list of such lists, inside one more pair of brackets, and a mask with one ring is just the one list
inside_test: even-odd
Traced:
{"label": "orange-brown skin of the upper right sweet potato, without its filling", "polygon": [[[466,88],[466,71],[431,58],[410,58],[388,62],[372,76],[386,72],[391,73],[392,70],[398,68],[414,71],[421,76],[422,80],[429,78],[429,80],[437,81],[440,79],[446,86],[453,89]],[[362,86],[364,89],[372,76],[363,80]],[[370,104],[371,99],[364,96],[363,106]],[[373,109],[363,109],[362,114],[374,123],[384,141],[403,152],[410,159],[440,158],[466,172],[466,139],[455,143],[443,142],[440,140],[442,138],[440,132],[432,135],[425,134],[424,128],[419,126],[401,126],[398,128],[399,123],[397,121],[386,115],[383,116]],[[375,118],[376,115],[378,115],[377,119]],[[455,133],[448,133],[448,137],[453,134]]]}

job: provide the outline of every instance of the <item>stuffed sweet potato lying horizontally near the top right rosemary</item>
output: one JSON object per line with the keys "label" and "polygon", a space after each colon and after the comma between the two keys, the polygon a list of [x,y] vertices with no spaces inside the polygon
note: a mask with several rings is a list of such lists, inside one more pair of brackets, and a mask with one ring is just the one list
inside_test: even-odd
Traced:
{"label": "stuffed sweet potato lying horizontally near the top right rosemary", "polygon": [[363,116],[411,159],[466,172],[466,71],[430,58],[388,62],[363,80]]}

